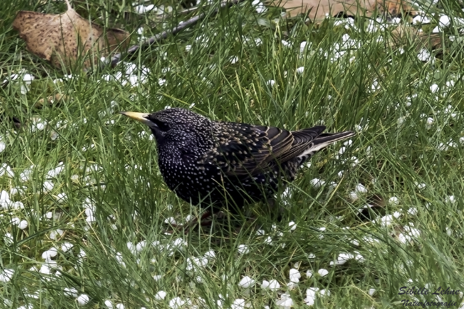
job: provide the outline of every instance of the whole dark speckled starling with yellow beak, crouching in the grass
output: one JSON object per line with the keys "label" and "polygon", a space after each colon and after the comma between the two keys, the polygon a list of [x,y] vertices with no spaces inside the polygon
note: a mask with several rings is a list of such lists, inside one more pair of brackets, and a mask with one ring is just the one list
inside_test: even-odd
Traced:
{"label": "whole dark speckled starling with yellow beak, crouching in the grass", "polygon": [[121,114],[150,127],[169,189],[194,205],[211,205],[214,212],[272,198],[316,151],[354,135],[322,133],[325,126],[287,131],[213,121],[184,108]]}

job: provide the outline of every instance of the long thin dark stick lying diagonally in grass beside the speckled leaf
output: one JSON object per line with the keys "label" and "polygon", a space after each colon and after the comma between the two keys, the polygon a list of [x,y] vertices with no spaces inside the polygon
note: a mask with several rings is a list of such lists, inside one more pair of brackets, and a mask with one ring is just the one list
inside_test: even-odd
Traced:
{"label": "long thin dark stick lying diagonally in grass beside the speckled leaf", "polygon": [[[221,3],[220,8],[222,9],[222,8],[224,8],[226,6],[227,7],[233,6],[235,4],[238,4],[241,1],[243,1],[243,0],[224,1],[224,2]],[[213,17],[218,12],[219,12],[219,8],[214,9],[214,11],[211,13],[210,17]],[[163,32],[149,38],[147,41],[143,42],[142,44],[130,46],[128,48],[128,50],[124,54],[132,55],[137,50],[139,50],[139,48],[147,48],[148,46],[150,46],[151,44],[153,44],[155,42],[159,42],[161,40],[164,40],[165,38],[168,38],[169,34],[172,34],[172,35],[177,34],[177,33],[181,32],[182,30],[186,29],[188,26],[196,24],[199,20],[204,19],[205,17],[206,17],[206,13],[201,13],[200,15],[194,16],[191,19],[186,20],[182,24],[175,26],[172,30],[163,31]],[[116,66],[116,64],[121,61],[122,55],[123,55],[122,53],[117,53],[116,55],[111,57],[111,66],[112,67]]]}

